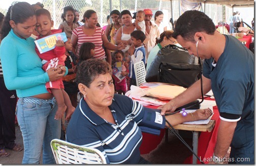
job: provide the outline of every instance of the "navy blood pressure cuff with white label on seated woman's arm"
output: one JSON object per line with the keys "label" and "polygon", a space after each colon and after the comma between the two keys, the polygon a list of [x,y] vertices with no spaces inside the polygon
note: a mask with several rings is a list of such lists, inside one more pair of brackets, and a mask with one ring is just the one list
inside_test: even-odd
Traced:
{"label": "navy blood pressure cuff with white label on seated woman's arm", "polygon": [[160,112],[160,110],[145,108],[142,121],[138,124],[142,132],[160,135],[160,129],[165,128],[166,123],[165,116]]}

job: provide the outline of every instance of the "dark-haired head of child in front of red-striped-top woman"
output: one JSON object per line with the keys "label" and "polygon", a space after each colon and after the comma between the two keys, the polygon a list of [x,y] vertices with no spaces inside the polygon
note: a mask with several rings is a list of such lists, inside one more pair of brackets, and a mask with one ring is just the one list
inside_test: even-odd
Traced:
{"label": "dark-haired head of child in front of red-striped-top woman", "polygon": [[93,58],[95,55],[95,45],[90,42],[85,42],[81,45],[80,51],[79,51],[79,65],[82,61]]}

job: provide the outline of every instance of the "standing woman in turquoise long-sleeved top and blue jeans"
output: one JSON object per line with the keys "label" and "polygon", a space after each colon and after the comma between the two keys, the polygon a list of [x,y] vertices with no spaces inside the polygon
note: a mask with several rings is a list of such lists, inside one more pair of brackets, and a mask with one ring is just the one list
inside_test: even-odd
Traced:
{"label": "standing woman in turquoise long-sleeved top and blue jeans", "polygon": [[[30,4],[11,6],[1,31],[0,58],[6,87],[15,89],[19,97],[16,114],[24,144],[22,163],[39,163],[43,147],[43,163],[54,164],[50,142],[60,138],[60,120],[54,120],[56,101],[45,83],[60,79],[68,70],[59,66],[43,71],[34,39],[30,38],[36,23]],[[71,114],[67,113],[69,117]]]}

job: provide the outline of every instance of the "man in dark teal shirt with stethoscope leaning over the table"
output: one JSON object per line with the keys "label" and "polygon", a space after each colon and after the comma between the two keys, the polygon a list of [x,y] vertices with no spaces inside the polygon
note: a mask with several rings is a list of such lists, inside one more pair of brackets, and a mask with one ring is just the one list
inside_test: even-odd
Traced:
{"label": "man in dark teal shirt with stethoscope leaning over the table", "polygon": [[[177,20],[173,37],[189,54],[204,61],[203,93],[212,89],[220,114],[213,160],[209,163],[254,163],[254,55],[236,38],[221,35],[199,11]],[[174,111],[201,96],[200,80],[159,108]],[[224,158],[231,146],[230,158]]]}

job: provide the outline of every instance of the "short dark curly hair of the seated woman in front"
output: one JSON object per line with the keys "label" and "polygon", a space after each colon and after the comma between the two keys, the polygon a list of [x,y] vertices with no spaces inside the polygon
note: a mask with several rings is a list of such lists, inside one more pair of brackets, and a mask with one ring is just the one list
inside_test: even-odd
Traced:
{"label": "short dark curly hair of the seated woman in front", "polygon": [[112,75],[112,69],[108,62],[102,59],[88,59],[80,63],[77,69],[76,82],[89,88],[95,77],[107,73]]}

